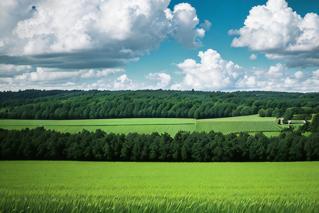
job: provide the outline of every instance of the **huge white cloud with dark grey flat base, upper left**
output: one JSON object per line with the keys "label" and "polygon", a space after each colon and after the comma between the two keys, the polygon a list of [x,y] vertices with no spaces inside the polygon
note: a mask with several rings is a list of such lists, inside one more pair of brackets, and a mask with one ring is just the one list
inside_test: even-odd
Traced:
{"label": "huge white cloud with dark grey flat base, upper left", "polygon": [[[138,60],[169,37],[201,46],[196,10],[170,0],[2,1],[0,63],[109,68]],[[36,10],[32,6],[36,6]],[[18,14],[18,15],[17,15]],[[208,22],[204,22],[205,27]]]}

